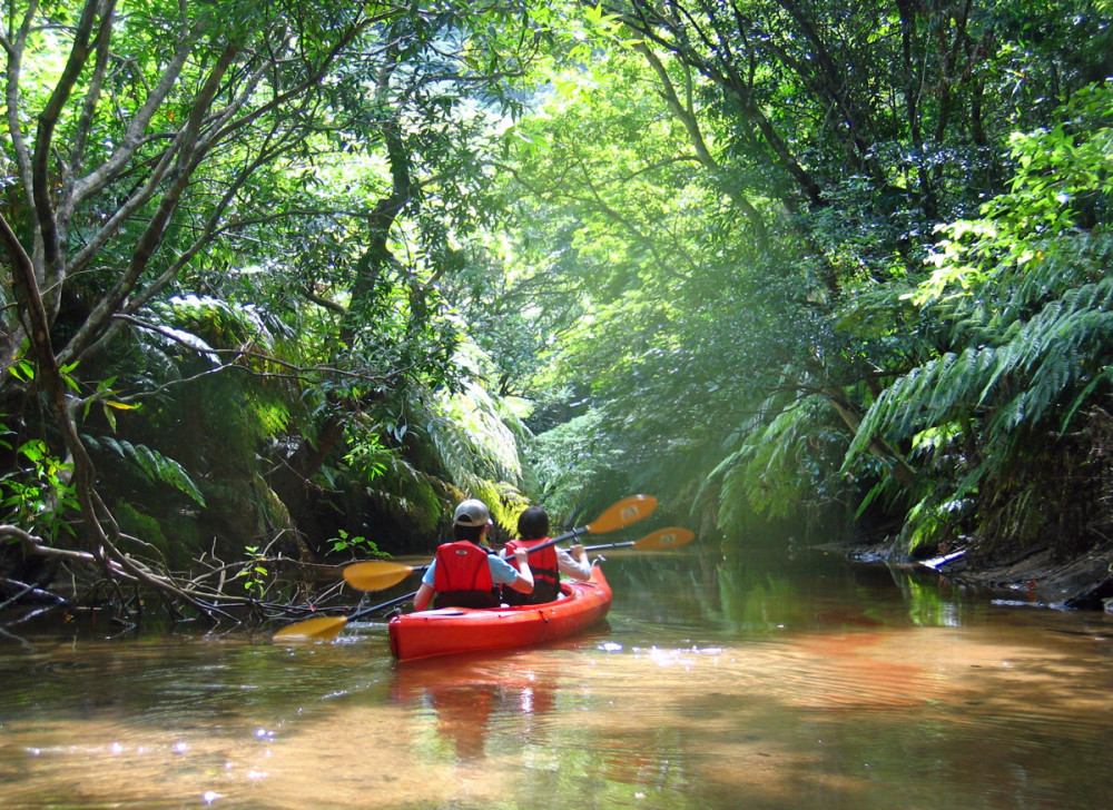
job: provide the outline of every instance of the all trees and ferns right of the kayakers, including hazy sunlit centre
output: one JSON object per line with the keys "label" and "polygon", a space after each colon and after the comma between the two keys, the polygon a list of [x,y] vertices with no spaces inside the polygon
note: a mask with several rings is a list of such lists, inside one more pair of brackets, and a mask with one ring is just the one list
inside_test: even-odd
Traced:
{"label": "all trees and ferns right of the kayakers, including hazy sunlit centre", "polygon": [[731,534],[1104,543],[1107,4],[603,9],[520,127],[523,286],[583,313],[549,455]]}

